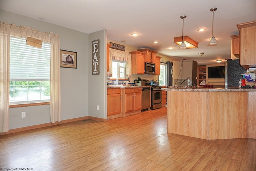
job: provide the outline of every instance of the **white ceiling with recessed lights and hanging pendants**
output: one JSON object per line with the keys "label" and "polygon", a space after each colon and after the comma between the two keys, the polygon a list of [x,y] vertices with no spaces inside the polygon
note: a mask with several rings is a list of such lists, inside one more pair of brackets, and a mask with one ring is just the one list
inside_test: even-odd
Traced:
{"label": "white ceiling with recessed lights and hanging pendants", "polygon": [[[218,45],[207,46],[213,7],[218,8],[214,12]],[[238,34],[236,24],[256,20],[256,0],[0,0],[0,8],[87,34],[106,29],[109,40],[150,48],[178,60],[195,60],[199,65],[229,59],[230,36]],[[184,36],[198,42],[198,48],[179,50],[173,43],[174,37],[182,36],[182,15],[187,16]],[[199,28],[206,31],[198,32]]]}

